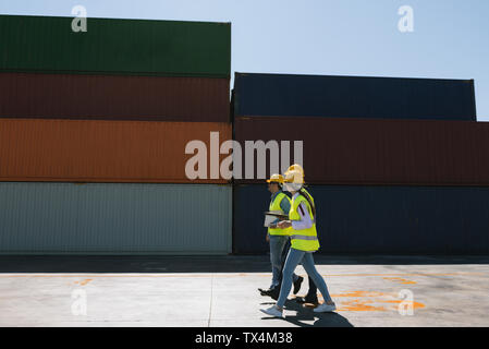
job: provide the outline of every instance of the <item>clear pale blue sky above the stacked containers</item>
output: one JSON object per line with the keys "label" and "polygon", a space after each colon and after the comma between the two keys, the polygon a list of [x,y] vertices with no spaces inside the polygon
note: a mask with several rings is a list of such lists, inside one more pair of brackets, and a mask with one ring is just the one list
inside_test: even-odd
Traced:
{"label": "clear pale blue sky above the stacked containers", "polygon": [[[488,0],[3,0],[2,14],[232,23],[232,71],[474,79],[489,121]],[[414,10],[414,32],[398,10]]]}

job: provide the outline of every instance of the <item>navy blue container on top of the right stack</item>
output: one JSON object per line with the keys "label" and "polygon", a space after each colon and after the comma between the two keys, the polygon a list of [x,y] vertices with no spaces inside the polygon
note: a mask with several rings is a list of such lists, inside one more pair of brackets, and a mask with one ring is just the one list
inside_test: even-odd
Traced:
{"label": "navy blue container on top of the right stack", "polygon": [[474,81],[236,73],[236,116],[476,120]]}

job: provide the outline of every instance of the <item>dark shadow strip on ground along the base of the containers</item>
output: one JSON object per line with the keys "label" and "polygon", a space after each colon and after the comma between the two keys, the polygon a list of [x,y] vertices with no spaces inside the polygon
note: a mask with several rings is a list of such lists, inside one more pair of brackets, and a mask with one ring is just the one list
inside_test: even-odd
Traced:
{"label": "dark shadow strip on ground along the base of the containers", "polygon": [[[327,256],[316,264],[489,264],[486,256]],[[270,273],[270,257],[138,255],[0,255],[0,273]]]}

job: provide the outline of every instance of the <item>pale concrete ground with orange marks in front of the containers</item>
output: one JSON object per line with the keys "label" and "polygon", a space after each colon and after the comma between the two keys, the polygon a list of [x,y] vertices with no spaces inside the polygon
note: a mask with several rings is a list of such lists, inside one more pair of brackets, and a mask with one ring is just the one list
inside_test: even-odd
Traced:
{"label": "pale concrete ground with orange marks in front of the containers", "polygon": [[0,326],[489,326],[488,256],[315,260],[338,311],[278,320],[268,256],[0,256]]}

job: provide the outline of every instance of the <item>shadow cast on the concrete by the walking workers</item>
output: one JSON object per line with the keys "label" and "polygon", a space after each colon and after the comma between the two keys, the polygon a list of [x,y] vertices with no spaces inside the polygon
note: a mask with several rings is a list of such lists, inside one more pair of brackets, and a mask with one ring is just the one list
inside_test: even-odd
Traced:
{"label": "shadow cast on the concrete by the walking workers", "polygon": [[[262,303],[274,304],[274,303]],[[283,321],[299,327],[353,327],[349,320],[338,313],[315,313],[311,308],[303,306],[294,300],[288,300],[284,306],[285,311],[295,311],[295,315],[285,315]],[[271,320],[276,317],[261,317],[262,320]],[[304,323],[305,321],[314,321],[313,324]]]}

